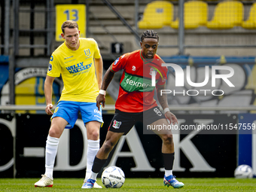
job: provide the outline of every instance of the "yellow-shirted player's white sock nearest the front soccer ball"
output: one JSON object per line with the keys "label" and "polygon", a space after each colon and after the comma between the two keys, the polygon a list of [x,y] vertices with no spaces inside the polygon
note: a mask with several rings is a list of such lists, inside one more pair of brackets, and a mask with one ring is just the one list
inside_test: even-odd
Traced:
{"label": "yellow-shirted player's white sock nearest the front soccer ball", "polygon": [[90,178],[90,175],[92,173],[93,160],[97,152],[99,151],[99,139],[96,141],[88,139],[87,142],[87,171],[85,174],[85,180]]}

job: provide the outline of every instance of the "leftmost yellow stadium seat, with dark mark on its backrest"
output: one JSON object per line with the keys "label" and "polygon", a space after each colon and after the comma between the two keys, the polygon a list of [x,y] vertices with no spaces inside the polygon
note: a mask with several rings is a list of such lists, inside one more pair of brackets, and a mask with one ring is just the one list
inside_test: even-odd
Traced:
{"label": "leftmost yellow stadium seat, with dark mark on its backrest", "polygon": [[160,29],[169,26],[173,20],[173,5],[171,2],[155,1],[148,3],[139,29]]}

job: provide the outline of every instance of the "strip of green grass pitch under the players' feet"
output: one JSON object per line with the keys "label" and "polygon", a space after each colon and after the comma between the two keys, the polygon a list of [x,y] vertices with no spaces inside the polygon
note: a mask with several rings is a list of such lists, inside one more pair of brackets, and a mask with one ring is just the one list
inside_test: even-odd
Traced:
{"label": "strip of green grass pitch under the players' feet", "polygon": [[[0,178],[0,191],[85,191],[83,178],[55,178],[53,187],[34,187],[38,178]],[[185,186],[180,189],[163,186],[163,178],[126,178],[120,189],[89,189],[90,191],[256,191],[256,179],[178,178]],[[102,185],[100,178],[97,181]]]}

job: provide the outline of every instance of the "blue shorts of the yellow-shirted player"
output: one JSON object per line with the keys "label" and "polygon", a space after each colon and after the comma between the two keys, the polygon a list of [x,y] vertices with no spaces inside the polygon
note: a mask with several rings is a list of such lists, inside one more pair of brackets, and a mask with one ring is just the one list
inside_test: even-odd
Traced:
{"label": "blue shorts of the yellow-shirted player", "polygon": [[66,129],[72,129],[75,125],[76,120],[78,119],[78,113],[81,112],[82,120],[84,123],[96,120],[100,123],[103,123],[102,120],[102,108],[98,110],[96,102],[69,102],[69,101],[60,101],[55,108],[53,113],[54,117],[62,117],[68,121]]}

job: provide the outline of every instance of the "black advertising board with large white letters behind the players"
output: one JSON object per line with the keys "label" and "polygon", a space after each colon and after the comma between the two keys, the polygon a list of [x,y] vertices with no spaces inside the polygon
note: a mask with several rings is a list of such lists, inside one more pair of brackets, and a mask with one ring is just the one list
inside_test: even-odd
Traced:
{"label": "black advertising board with large white letters behind the players", "polygon": [[[113,114],[104,114],[101,145]],[[178,114],[181,125],[196,123],[237,123],[237,114]],[[1,178],[32,178],[44,173],[44,147],[50,117],[46,114],[1,114]],[[161,140],[144,134],[142,123],[123,136],[105,166],[120,166],[126,177],[162,177]],[[54,167],[55,178],[83,178],[86,168],[87,136],[79,119],[65,130]],[[180,130],[174,134],[175,165],[178,177],[233,177],[236,169],[236,134],[209,134],[208,130]],[[15,171],[14,171],[15,170]],[[101,174],[101,173],[100,173]],[[99,174],[99,175],[100,175]]]}

